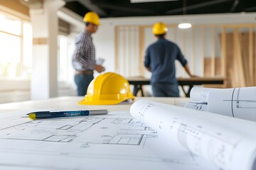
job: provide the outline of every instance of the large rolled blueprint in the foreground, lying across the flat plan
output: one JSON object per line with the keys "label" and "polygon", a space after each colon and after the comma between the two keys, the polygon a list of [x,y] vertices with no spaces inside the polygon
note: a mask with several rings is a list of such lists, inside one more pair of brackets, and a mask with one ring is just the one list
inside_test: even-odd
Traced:
{"label": "large rolled blueprint in the foreground, lying across the flat plan", "polygon": [[223,170],[256,170],[256,123],[148,100],[130,113]]}

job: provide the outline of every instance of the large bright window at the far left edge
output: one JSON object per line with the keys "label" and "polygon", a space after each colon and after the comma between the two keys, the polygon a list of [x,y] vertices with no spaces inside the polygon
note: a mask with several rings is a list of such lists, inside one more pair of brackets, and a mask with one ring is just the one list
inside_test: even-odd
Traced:
{"label": "large bright window at the far left edge", "polygon": [[32,26],[0,13],[0,79],[30,79]]}

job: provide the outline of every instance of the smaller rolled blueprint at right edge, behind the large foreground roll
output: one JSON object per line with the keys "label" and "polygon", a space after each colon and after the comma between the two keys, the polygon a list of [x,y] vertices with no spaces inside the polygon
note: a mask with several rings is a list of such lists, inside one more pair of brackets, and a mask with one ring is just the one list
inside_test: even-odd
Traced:
{"label": "smaller rolled blueprint at right edge, behind the large foreground roll", "polygon": [[[207,103],[208,112],[256,121],[256,86],[233,89],[194,87],[191,99],[196,103]],[[191,104],[186,106],[192,108]],[[194,109],[199,110],[198,107]]]}

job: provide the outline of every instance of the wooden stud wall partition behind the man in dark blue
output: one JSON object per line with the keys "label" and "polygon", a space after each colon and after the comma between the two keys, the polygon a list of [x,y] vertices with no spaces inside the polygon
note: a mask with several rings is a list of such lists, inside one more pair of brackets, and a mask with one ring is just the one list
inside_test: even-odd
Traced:
{"label": "wooden stud wall partition behind the man in dark blue", "polygon": [[[225,85],[229,88],[235,86],[256,86],[256,24],[218,24],[218,25],[196,25],[191,31],[185,32],[177,28],[177,24],[167,25],[173,30],[174,42],[179,42],[185,57],[190,60],[190,68],[193,74],[200,77],[223,77]],[[152,26],[116,26],[115,28],[115,67],[120,72],[125,65],[133,65],[134,60],[127,60],[122,57],[132,55],[132,41],[135,38],[132,33],[122,35],[121,31],[129,31],[138,28],[138,63],[137,76],[144,77],[144,52],[145,42],[149,35],[148,29]],[[146,32],[147,30],[147,32]],[[208,30],[208,32],[206,31]],[[151,32],[150,32],[151,33]],[[122,35],[122,37],[121,37]],[[150,35],[151,36],[151,35]],[[128,38],[128,40],[125,40]],[[168,38],[167,38],[168,39]],[[188,45],[188,41],[190,45]],[[122,43],[120,43],[122,42]],[[127,43],[126,43],[127,42]],[[121,47],[120,45],[126,45]],[[209,47],[210,45],[210,47]],[[199,50],[198,50],[199,49]],[[123,54],[120,54],[122,50]],[[120,67],[120,62],[122,67]],[[198,69],[198,66],[200,69]],[[131,72],[131,68],[126,68]],[[183,70],[178,70],[183,77]],[[127,73],[125,73],[127,74]],[[127,74],[129,76],[129,74]]]}

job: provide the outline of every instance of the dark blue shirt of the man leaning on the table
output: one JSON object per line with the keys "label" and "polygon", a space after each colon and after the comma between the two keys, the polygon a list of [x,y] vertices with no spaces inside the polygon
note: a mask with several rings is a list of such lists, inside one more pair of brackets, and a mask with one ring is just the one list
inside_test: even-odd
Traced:
{"label": "dark blue shirt of the man leaning on the table", "polygon": [[151,69],[151,84],[177,84],[175,60],[185,67],[186,59],[174,42],[159,38],[146,49],[144,66]]}

